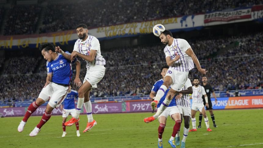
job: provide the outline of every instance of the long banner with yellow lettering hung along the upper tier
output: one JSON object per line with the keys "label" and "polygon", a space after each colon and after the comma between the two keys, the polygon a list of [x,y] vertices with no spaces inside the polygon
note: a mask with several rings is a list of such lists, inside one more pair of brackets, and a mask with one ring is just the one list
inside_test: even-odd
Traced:
{"label": "long banner with yellow lettering hung along the upper tier", "polygon": [[[153,31],[153,26],[163,24],[170,31],[189,31],[201,29],[204,26],[204,15],[186,15],[183,17],[172,17],[159,20],[149,20],[144,22],[133,22],[128,24],[118,24],[106,27],[90,28],[89,35],[93,35],[99,40],[128,37],[141,34],[149,34]],[[38,48],[43,42],[58,45],[74,44],[79,39],[76,30],[44,33],[39,35],[9,35],[0,36],[0,49],[23,49]]]}

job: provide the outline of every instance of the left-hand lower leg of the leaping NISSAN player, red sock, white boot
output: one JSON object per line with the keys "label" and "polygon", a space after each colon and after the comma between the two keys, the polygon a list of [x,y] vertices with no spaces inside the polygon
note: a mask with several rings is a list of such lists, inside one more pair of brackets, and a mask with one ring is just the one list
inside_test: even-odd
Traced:
{"label": "left-hand lower leg of the leaping NISSAN player, red sock, white boot", "polygon": [[[40,99],[40,98],[38,98],[38,99]],[[42,99],[41,99],[41,100],[42,100]],[[43,102],[44,102],[44,100],[43,100]],[[45,103],[45,102],[44,102],[44,103]],[[42,104],[43,104],[43,103],[42,103]],[[18,126],[18,128],[17,128],[17,131],[22,132],[22,131],[24,130],[24,126],[25,126],[28,118],[31,116],[32,113],[35,112],[35,110],[36,110],[39,106],[40,106],[40,105],[37,105],[36,102],[32,102],[32,103],[28,106],[28,110],[27,110],[27,112],[25,113],[23,120],[21,120],[21,122],[20,122],[20,124],[19,124],[19,126]]]}

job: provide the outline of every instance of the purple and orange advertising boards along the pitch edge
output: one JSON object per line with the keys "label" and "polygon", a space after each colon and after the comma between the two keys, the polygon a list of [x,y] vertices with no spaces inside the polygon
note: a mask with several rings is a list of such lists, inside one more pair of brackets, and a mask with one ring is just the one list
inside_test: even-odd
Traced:
{"label": "purple and orange advertising boards along the pitch edge", "polygon": [[[263,96],[246,96],[246,97],[227,97],[211,98],[213,109],[247,109],[247,108],[263,108]],[[192,104],[192,100],[191,100]],[[28,107],[11,107],[0,108],[2,117],[24,116]],[[32,115],[42,116],[46,106],[40,106]],[[132,101],[132,102],[113,102],[113,103],[93,103],[92,113],[132,113],[132,112],[150,112],[150,101]],[[85,114],[86,110],[81,109],[81,113]],[[53,115],[62,115],[62,110],[54,109]]]}

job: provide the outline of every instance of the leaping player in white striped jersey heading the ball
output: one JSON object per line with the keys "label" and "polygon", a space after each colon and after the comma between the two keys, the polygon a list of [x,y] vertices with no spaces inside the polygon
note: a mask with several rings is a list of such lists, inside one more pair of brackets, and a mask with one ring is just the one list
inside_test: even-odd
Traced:
{"label": "leaping player in white striped jersey heading the ball", "polygon": [[146,123],[157,119],[157,117],[167,108],[173,96],[184,86],[188,78],[188,73],[194,68],[194,64],[197,66],[199,72],[206,74],[206,70],[201,68],[197,57],[186,40],[174,39],[169,30],[163,31],[160,35],[160,39],[161,42],[166,45],[164,48],[165,59],[167,65],[170,67],[165,75],[164,83],[157,91],[155,99],[151,103],[152,106],[156,106],[158,104],[162,96],[165,94],[165,91],[170,86],[171,89],[166,95],[160,109],[157,110],[157,113],[152,117],[144,119]]}

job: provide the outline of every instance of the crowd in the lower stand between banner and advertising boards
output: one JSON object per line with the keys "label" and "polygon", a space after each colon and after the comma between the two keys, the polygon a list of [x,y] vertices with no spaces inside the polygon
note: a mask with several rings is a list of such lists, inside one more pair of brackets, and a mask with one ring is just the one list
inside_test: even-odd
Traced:
{"label": "crowd in the lower stand between banner and advertising boards", "polygon": [[[263,67],[260,66],[263,65],[263,56],[260,55],[263,43],[262,32],[241,37],[189,41],[189,43],[197,57],[203,59],[200,60],[201,64],[209,71],[206,76],[215,90],[256,89],[263,86]],[[236,46],[224,49],[230,44]],[[91,96],[149,94],[154,82],[161,78],[161,66],[165,65],[163,47],[164,45],[136,46],[112,50],[114,52],[102,51],[107,63],[106,73],[98,83],[98,88],[93,89]],[[251,51],[256,52],[251,53]],[[128,53],[129,56],[125,56]],[[210,58],[215,53],[220,54]],[[34,62],[40,59],[41,61]],[[6,68],[4,70],[6,75],[0,77],[2,97],[0,100],[28,100],[37,97],[46,78],[46,61],[43,57],[13,57],[9,60],[12,66]],[[80,61],[82,65],[80,79],[83,80],[86,74],[86,62],[82,59]],[[29,63],[33,63],[33,66],[28,67]],[[31,74],[32,67],[40,74]],[[196,68],[189,73],[190,79],[195,76],[201,78]],[[73,89],[78,88],[74,86]]]}

